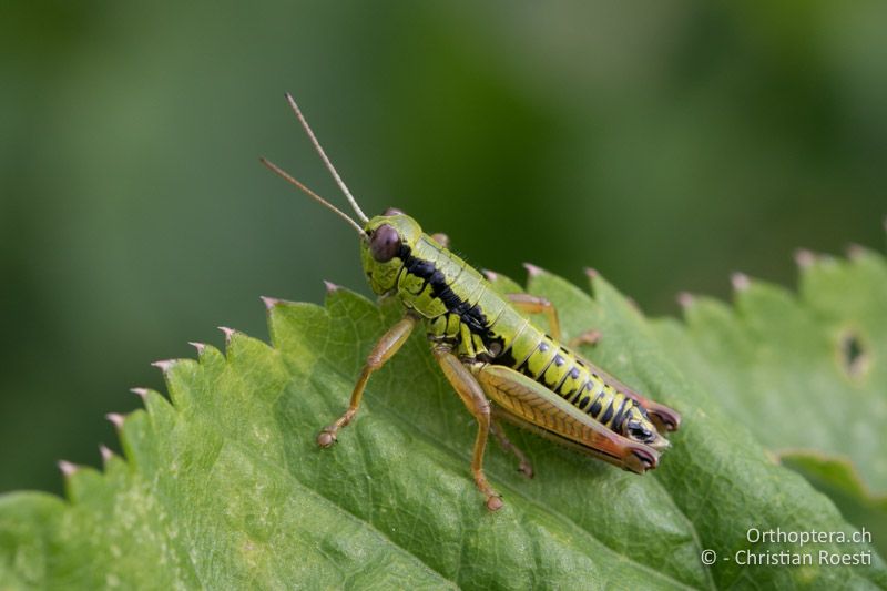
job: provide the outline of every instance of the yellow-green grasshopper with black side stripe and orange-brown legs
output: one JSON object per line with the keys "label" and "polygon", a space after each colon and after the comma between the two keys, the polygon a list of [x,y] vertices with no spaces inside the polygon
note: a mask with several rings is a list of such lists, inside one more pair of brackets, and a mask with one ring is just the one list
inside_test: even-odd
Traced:
{"label": "yellow-green grasshopper with black side stripe and orange-brown legs", "polygon": [[[289,94],[286,99],[360,224],[277,165],[264,157],[262,163],[357,231],[370,287],[380,296],[396,296],[405,312],[367,357],[348,409],[317,436],[322,448],[336,442],[339,429],[357,415],[369,377],[422,323],[443,375],[477,419],[471,471],[490,511],[502,507],[483,475],[490,431],[518,458],[520,471],[533,476],[527,457],[506,438],[500,419],[636,473],[657,466],[669,446],[660,431],[679,428],[676,411],[648,400],[562,345],[550,302],[528,294],[500,295],[485,275],[447,248],[445,235],[425,234],[400,210],[367,217],[296,102]],[[550,334],[521,313],[546,314]]]}

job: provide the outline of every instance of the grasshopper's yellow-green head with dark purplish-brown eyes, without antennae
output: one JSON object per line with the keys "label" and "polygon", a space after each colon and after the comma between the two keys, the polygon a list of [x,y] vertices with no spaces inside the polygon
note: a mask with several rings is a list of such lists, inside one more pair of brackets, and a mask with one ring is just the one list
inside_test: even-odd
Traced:
{"label": "grasshopper's yellow-green head with dark purplish-brown eyes, without antennae", "polygon": [[367,240],[360,241],[360,262],[369,286],[379,295],[397,288],[397,276],[409,253],[419,242],[422,228],[400,210],[389,208],[364,225]]}

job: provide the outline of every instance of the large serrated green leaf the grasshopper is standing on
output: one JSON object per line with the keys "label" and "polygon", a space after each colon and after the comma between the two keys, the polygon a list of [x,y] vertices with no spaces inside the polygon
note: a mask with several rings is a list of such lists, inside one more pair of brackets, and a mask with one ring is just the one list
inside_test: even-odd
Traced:
{"label": "large serrated green leaf the grasshopper is standing on", "polygon": [[[70,501],[0,498],[0,587],[673,589],[887,587],[866,567],[741,567],[748,528],[850,534],[832,502],[774,463],[752,432],[671,360],[615,289],[592,299],[548,274],[529,288],[559,306],[569,336],[605,335],[594,360],[684,415],[653,473],[638,477],[510,431],[527,480],[491,444],[506,506],[483,509],[469,471],[476,425],[415,335],[374,375],[330,450],[364,356],[398,317],[347,291],[325,307],[272,305],[272,346],[235,333],[226,351],[165,371],[126,417],[126,461],[80,469]],[[867,544],[815,550],[869,552]],[[700,561],[703,549],[722,558]]]}

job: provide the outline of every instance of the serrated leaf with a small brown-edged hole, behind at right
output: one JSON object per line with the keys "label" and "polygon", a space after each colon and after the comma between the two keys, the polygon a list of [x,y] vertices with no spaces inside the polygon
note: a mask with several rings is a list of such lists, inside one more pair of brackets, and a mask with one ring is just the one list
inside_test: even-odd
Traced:
{"label": "serrated leaf with a small brown-edged hole, behind at right", "polygon": [[742,282],[733,306],[662,322],[674,360],[887,550],[887,265],[802,256],[798,294]]}

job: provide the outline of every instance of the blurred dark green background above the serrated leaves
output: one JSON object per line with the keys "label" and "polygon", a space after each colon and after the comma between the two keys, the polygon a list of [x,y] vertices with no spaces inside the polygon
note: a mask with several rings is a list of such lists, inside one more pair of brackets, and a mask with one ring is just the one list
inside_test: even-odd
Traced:
{"label": "blurred dark green background above the serrated leaves", "polygon": [[299,100],[368,213],[652,314],[881,248],[887,3],[40,2],[0,8],[0,491],[99,463],[155,359],[368,293]]}

